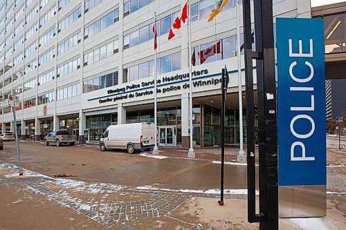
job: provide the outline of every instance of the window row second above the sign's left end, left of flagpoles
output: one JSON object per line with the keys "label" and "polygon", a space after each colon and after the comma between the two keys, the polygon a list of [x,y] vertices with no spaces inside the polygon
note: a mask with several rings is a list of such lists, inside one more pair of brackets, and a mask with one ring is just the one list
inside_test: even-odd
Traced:
{"label": "window row second above the sign's left end, left of flagpoles", "polygon": [[110,57],[114,53],[118,52],[119,44],[118,40],[111,41],[109,44],[97,48],[91,52],[84,55],[84,66],[88,64],[93,64],[96,61],[100,61],[106,57]]}

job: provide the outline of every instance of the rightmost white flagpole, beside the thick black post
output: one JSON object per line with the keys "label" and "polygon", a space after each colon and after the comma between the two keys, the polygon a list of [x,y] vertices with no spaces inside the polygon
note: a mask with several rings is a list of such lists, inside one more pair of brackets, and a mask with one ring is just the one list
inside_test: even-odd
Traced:
{"label": "rightmost white flagpole, beside the thick black post", "polygon": [[242,95],[242,59],[240,57],[240,28],[239,28],[239,0],[236,3],[236,17],[237,17],[237,60],[238,60],[238,95],[239,95],[239,137],[240,148],[237,155],[238,162],[246,160],[243,149],[243,95]]}

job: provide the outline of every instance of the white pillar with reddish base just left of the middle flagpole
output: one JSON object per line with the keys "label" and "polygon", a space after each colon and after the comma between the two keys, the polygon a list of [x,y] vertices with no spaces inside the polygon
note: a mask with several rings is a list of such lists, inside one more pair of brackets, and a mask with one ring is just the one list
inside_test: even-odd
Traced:
{"label": "white pillar with reddish base just left of the middle flagpole", "polygon": [[183,148],[190,147],[189,135],[189,95],[184,93],[181,95],[181,146]]}

